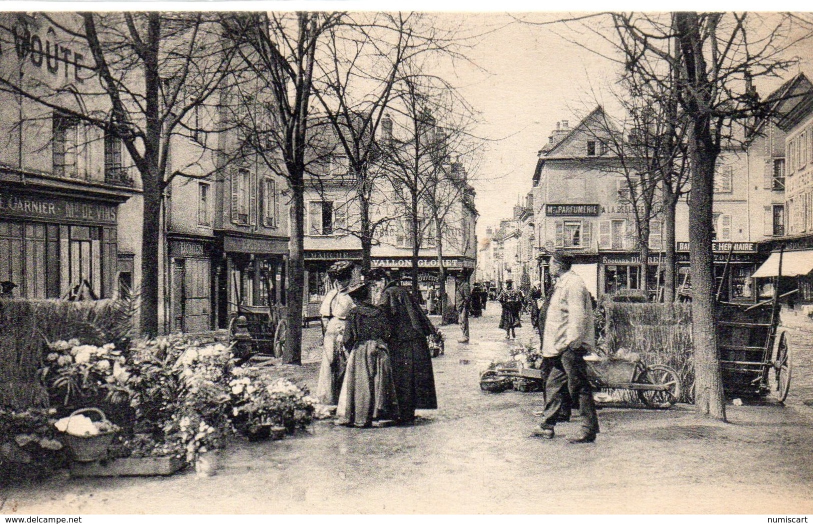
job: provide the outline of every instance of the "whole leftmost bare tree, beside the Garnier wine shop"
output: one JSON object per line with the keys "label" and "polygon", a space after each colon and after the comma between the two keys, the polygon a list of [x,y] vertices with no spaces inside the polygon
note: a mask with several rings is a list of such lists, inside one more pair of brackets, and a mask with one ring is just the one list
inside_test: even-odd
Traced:
{"label": "whole leftmost bare tree, beside the Garnier wine shop", "polygon": [[[20,75],[0,77],[0,89],[37,102],[46,118],[54,114],[83,122],[124,145],[143,189],[141,331],[155,335],[163,195],[182,174],[167,169],[169,146],[173,135],[189,131],[189,114],[220,88],[232,49],[220,38],[213,15],[205,13],[41,16],[85,46],[89,56],[81,63],[74,57],[72,64],[54,57],[55,64],[63,62],[66,77],[68,67],[75,69],[59,87]],[[25,26],[15,40],[20,58],[43,57]]]}

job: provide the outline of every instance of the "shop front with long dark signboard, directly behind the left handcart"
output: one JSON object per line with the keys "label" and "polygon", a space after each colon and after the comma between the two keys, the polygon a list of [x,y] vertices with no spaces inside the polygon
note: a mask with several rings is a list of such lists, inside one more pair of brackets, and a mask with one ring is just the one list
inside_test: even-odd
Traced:
{"label": "shop front with long dark signboard, directly behind the left handcart", "polygon": [[285,263],[288,238],[224,234],[220,248],[219,324],[237,304],[269,306],[285,304]]}

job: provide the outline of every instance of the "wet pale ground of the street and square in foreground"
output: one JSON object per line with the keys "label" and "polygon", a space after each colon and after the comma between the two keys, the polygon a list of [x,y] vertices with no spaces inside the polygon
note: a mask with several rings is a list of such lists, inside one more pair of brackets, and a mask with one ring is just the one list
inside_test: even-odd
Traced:
{"label": "wet pale ground of the street and square in foreground", "polygon": [[[810,337],[794,342],[806,349],[794,352],[787,406],[729,405],[728,423],[680,404],[605,407],[598,440],[569,445],[578,419],[553,440],[531,436],[541,393],[480,391],[490,361],[536,340],[526,324],[506,341],[497,310],[472,319],[469,344],[454,342],[457,326],[442,328],[440,407],[415,426],[319,421],[285,440],[238,441],[211,478],[59,476],[0,490],[0,513],[813,513]],[[298,376],[314,387],[316,369]]]}

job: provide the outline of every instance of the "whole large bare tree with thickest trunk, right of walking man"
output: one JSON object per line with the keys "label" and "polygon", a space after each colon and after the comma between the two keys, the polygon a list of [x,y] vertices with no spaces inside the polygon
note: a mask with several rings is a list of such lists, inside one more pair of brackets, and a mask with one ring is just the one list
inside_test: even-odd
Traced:
{"label": "whole large bare tree with thickest trunk, right of walking man", "polygon": [[744,77],[786,71],[793,60],[784,58],[784,52],[795,42],[785,38],[785,17],[767,30],[765,19],[757,27],[746,13],[619,13],[612,19],[626,74],[636,77],[637,84],[673,90],[687,118],[695,402],[698,414],[725,419],[714,329],[715,164],[722,145],[734,138],[737,123],[764,109],[746,90]]}

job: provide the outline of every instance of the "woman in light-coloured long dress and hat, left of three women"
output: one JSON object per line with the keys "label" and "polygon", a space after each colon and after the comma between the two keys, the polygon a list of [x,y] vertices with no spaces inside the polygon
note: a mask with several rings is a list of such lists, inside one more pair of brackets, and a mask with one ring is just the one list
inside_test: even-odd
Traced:
{"label": "woman in light-coloured long dress and hat, left of three women", "polygon": [[328,291],[320,307],[324,326],[322,364],[319,368],[319,382],[316,384],[316,398],[322,404],[335,406],[339,402],[341,380],[345,373],[346,356],[341,345],[342,333],[350,310],[355,307],[353,299],[346,293],[353,277],[353,263],[339,260],[328,269],[328,276],[336,281],[336,287]]}

